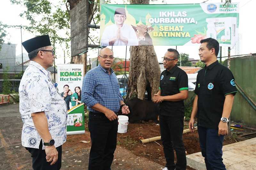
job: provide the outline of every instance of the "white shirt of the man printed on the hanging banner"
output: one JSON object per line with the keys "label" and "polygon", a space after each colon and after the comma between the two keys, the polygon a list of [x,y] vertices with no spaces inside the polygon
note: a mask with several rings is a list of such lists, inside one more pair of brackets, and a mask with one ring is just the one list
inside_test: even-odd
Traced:
{"label": "white shirt of the man printed on the hanging banner", "polygon": [[[112,39],[116,36],[118,27],[116,24],[107,26],[101,37],[101,46],[109,46],[109,39]],[[130,25],[124,24],[120,28],[120,33],[123,37],[128,39],[128,46],[137,46],[139,44],[137,35]],[[126,44],[121,40],[116,40],[113,46],[126,46]]]}

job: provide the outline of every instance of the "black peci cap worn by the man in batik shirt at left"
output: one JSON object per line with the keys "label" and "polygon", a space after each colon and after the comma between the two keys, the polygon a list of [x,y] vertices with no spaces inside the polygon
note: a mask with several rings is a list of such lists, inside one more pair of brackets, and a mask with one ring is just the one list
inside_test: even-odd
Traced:
{"label": "black peci cap worn by the man in batik shirt at left", "polygon": [[21,43],[28,53],[38,48],[51,46],[49,35],[42,35]]}

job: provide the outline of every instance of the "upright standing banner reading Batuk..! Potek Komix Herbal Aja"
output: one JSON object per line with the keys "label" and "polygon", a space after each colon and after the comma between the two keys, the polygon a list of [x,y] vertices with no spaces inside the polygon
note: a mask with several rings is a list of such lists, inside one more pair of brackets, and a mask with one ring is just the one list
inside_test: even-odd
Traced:
{"label": "upright standing banner reading Batuk..! Potek Komix Herbal Aja", "polygon": [[84,133],[84,103],[81,101],[84,64],[58,64],[55,83],[68,107],[67,135]]}

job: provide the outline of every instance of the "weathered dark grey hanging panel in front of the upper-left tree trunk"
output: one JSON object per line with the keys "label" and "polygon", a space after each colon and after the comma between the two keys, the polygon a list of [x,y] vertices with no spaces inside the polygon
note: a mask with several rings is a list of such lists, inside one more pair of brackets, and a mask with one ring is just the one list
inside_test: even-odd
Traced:
{"label": "weathered dark grey hanging panel in front of the upper-left tree trunk", "polygon": [[71,56],[87,49],[87,1],[82,0],[70,10]]}

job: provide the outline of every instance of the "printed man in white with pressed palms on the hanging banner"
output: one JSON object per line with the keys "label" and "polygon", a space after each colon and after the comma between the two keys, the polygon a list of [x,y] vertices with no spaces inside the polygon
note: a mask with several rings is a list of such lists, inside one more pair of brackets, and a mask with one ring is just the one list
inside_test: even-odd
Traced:
{"label": "printed man in white with pressed palms on the hanging banner", "polygon": [[107,26],[101,37],[101,46],[137,46],[138,38],[131,25],[124,24],[126,12],[124,8],[116,8],[114,25]]}

